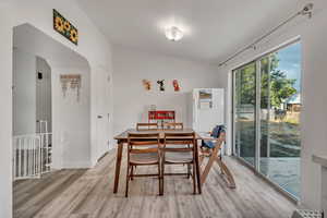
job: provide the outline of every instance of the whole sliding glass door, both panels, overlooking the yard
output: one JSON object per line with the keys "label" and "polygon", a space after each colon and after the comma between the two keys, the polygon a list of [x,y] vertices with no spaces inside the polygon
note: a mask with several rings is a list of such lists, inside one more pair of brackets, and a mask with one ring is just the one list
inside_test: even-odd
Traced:
{"label": "whole sliding glass door, both panels, overlooking the yard", "polygon": [[234,155],[300,198],[301,44],[233,71]]}

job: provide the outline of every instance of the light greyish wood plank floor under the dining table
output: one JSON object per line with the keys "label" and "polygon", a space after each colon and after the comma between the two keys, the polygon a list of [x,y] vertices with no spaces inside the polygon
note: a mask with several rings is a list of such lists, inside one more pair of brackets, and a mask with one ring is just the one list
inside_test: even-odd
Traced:
{"label": "light greyish wood plank floor under the dining table", "polygon": [[[191,179],[167,177],[165,196],[158,196],[157,179],[137,178],[130,183],[130,197],[125,198],[125,165],[119,193],[112,193],[114,157],[113,150],[94,169],[60,170],[40,180],[16,182],[14,217],[287,218],[295,209],[293,203],[230,157],[226,157],[226,162],[235,177],[237,190],[226,186],[219,168],[215,166],[202,195],[192,194]],[[152,172],[155,169],[140,167],[137,171]]]}

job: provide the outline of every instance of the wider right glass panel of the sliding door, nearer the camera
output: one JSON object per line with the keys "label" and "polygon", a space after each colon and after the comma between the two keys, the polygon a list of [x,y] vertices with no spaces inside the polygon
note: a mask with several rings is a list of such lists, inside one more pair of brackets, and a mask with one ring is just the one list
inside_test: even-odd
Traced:
{"label": "wider right glass panel of the sliding door, nearer the camera", "polygon": [[[300,197],[301,45],[261,60],[261,169],[272,182]],[[266,116],[267,114],[267,116]]]}

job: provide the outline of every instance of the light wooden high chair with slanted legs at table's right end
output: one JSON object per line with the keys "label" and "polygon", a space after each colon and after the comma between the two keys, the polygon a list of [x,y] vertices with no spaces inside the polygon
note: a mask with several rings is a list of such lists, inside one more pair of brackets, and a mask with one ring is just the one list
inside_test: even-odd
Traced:
{"label": "light wooden high chair with slanted legs at table's right end", "polygon": [[204,141],[211,142],[213,146],[206,147],[202,146],[201,155],[199,155],[199,165],[204,162],[204,159],[208,157],[208,161],[204,168],[204,171],[201,174],[201,184],[204,184],[207,175],[209,174],[210,170],[215,162],[218,164],[221,174],[230,189],[235,189],[237,184],[231,171],[228,169],[227,165],[222,160],[221,148],[226,141],[226,133],[221,132],[218,138],[213,137],[203,137]]}

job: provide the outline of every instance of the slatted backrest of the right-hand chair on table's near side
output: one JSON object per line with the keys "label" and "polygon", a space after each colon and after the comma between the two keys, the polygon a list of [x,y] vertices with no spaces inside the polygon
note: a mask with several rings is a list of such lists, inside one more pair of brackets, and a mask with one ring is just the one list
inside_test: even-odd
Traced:
{"label": "slatted backrest of the right-hand chair on table's near side", "polygon": [[[170,145],[173,145],[171,147]],[[187,145],[187,147],[185,146]],[[194,152],[195,133],[165,133],[165,152]]]}

